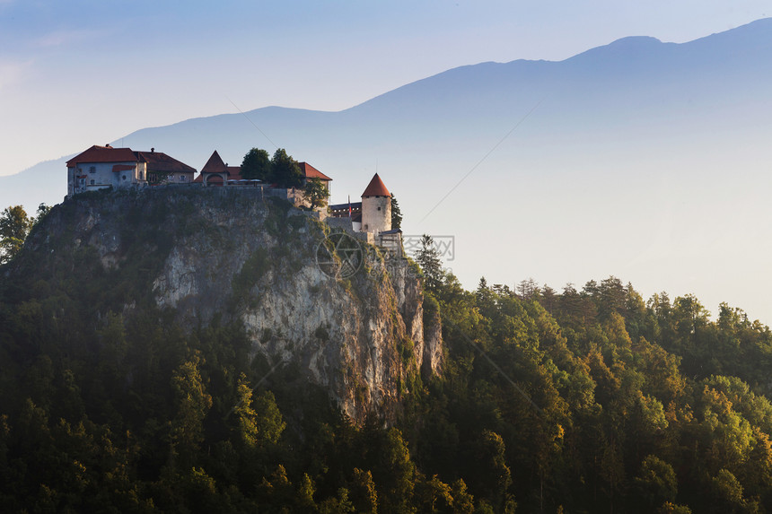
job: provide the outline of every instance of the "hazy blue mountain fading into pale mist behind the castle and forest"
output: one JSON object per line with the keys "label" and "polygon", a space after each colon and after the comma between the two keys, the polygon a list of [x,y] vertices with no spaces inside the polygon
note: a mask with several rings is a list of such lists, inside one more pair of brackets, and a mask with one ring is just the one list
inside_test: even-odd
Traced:
{"label": "hazy blue mountain fading into pale mist behind the castle and forest", "polygon": [[[468,286],[483,273],[556,287],[613,273],[769,320],[772,300],[745,296],[772,253],[760,237],[772,227],[768,91],[772,19],[683,44],[633,37],[560,62],[461,66],[339,112],[255,109],[123,144],[200,169],[215,149],[231,164],[273,151],[265,134],[331,176],[334,202],[357,198],[377,166],[407,232],[455,236],[447,264]],[[65,161],[0,177],[0,205],[59,201]]]}

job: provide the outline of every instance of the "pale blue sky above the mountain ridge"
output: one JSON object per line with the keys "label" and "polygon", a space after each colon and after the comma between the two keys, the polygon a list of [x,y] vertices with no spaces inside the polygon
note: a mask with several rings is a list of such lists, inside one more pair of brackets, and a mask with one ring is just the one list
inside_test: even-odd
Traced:
{"label": "pale blue sky above the mountain ridge", "polygon": [[0,175],[231,101],[346,109],[458,65],[683,42],[768,15],[758,0],[0,0]]}

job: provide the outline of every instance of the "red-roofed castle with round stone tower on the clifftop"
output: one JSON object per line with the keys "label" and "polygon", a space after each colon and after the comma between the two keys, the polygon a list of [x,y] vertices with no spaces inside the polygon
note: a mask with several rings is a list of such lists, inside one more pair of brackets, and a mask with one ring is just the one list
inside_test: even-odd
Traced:
{"label": "red-roofed castle with round stone tower on the clifftop", "polygon": [[[241,166],[228,166],[215,150],[196,175],[196,169],[177,161],[163,152],[138,152],[130,148],[113,148],[110,144],[93,145],[69,161],[67,166],[67,197],[86,191],[112,187],[153,187],[189,184],[197,187],[257,187],[261,195],[279,196],[305,205],[302,189],[275,187],[258,179],[241,177]],[[299,162],[303,185],[319,179],[327,188],[332,181],[327,175],[307,162]],[[320,220],[328,217],[320,211]],[[363,240],[386,248],[401,248],[401,231],[391,228],[391,194],[381,177],[375,173],[362,193],[362,201],[355,204],[329,205],[329,224],[361,234]]]}

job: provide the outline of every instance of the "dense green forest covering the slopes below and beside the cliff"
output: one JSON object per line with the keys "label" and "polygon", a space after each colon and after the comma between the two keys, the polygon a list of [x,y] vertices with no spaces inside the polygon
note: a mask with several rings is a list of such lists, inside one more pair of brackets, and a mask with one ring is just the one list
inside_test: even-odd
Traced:
{"label": "dense green forest covering the slopes below and beside the cliff", "polygon": [[772,510],[772,334],[740,309],[615,277],[466,291],[425,248],[443,376],[356,426],[238,321],[183,329],[75,257],[0,266],[4,511]]}

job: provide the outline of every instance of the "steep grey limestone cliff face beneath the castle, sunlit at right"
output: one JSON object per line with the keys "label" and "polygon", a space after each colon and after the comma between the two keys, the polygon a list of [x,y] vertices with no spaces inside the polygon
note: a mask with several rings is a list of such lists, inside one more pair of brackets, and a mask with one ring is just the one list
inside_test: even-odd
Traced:
{"label": "steep grey limestone cliff face beneath the castle, sunlit at right", "polygon": [[[329,256],[334,268],[350,257],[330,244],[339,236],[325,242],[323,222],[256,190],[76,196],[50,218],[117,276],[133,259],[156,256],[139,268],[147,277],[141,294],[174,309],[183,326],[241,319],[254,356],[301,370],[355,422],[368,413],[393,419],[411,374],[441,372],[439,323],[424,327],[413,267],[386,263],[379,248],[360,242],[352,261],[361,260],[359,269],[335,276],[319,263]],[[44,237],[34,234],[29,246],[45,249]],[[125,309],[133,305],[127,298]]]}

